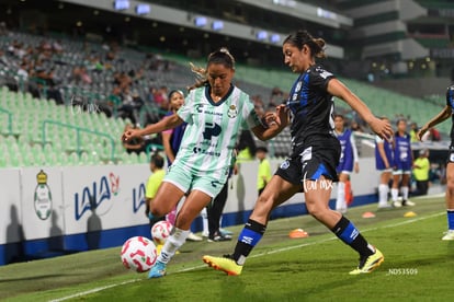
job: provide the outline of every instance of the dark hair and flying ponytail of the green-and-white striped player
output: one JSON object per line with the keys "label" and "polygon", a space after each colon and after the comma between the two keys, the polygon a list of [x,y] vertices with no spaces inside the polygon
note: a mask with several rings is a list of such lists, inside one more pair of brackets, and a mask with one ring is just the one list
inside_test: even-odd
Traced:
{"label": "dark hair and flying ponytail of the green-and-white striped player", "polygon": [[[230,68],[235,70],[235,58],[228,51],[226,47],[222,47],[216,51],[213,51],[208,55],[208,61],[206,66],[208,67],[211,63],[222,63],[227,68]],[[208,84],[208,74],[207,74],[207,68],[202,68],[194,66],[192,62],[190,62],[191,71],[195,73],[195,83],[192,86],[189,86],[188,90],[191,91],[196,88],[201,88]]]}

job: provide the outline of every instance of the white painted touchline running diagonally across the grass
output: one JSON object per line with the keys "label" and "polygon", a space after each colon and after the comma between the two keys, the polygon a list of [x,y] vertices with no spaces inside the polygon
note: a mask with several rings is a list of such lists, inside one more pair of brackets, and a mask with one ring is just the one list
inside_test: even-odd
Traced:
{"label": "white painted touchline running diagonally across the grass", "polygon": [[[421,220],[431,219],[431,218],[434,218],[434,217],[438,217],[438,216],[442,216],[444,213],[445,212],[443,211],[443,212],[439,212],[439,213],[434,213],[434,214],[430,214],[430,216],[424,216],[424,217],[418,217],[418,218],[413,218],[413,219],[409,219],[409,220],[405,220],[405,221],[401,221],[401,222],[391,223],[391,224],[387,224],[387,225],[383,225],[383,226],[365,229],[365,230],[362,230],[361,233],[376,231],[376,230],[379,230],[379,229],[396,228],[396,226],[400,226],[400,225],[404,225],[404,224],[409,224],[409,223],[418,222],[418,221],[421,221]],[[328,241],[333,241],[333,240],[337,240],[337,239],[338,239],[337,236],[332,236],[332,237],[329,237],[329,239],[324,239],[324,240],[314,241],[314,242],[309,242],[309,243],[303,243],[303,244],[298,244],[298,245],[293,245],[293,246],[287,246],[287,247],[282,247],[282,248],[275,248],[275,249],[272,249],[272,251],[269,251],[269,252],[254,254],[254,255],[250,256],[249,258],[256,258],[256,257],[262,257],[262,256],[265,256],[265,255],[277,254],[277,253],[282,253],[282,252],[286,252],[286,251],[291,251],[291,249],[295,249],[295,248],[300,248],[300,247],[310,246],[310,245],[315,245],[315,244],[319,244],[319,243],[324,243],[324,242],[328,242]],[[190,271],[190,270],[194,270],[194,269],[203,268],[203,267],[206,267],[206,265],[192,266],[192,267],[188,267],[188,268],[177,270],[175,272]],[[137,282],[137,281],[140,281],[140,280],[143,280],[143,279],[133,279],[133,280],[127,280],[127,281],[123,281],[123,282],[120,282],[120,283],[113,283],[113,284],[109,284],[109,286],[104,286],[104,287],[99,287],[99,288],[94,288],[94,289],[91,289],[91,290],[81,291],[81,292],[78,292],[78,293],[75,293],[75,294],[71,294],[71,295],[66,295],[66,297],[63,297],[63,298],[59,298],[59,299],[50,300],[50,302],[60,302],[60,301],[66,301],[66,300],[73,299],[73,298],[80,298],[80,297],[83,297],[83,295],[87,295],[87,294],[100,292],[100,291],[111,289],[111,288],[115,288],[115,287],[120,287],[120,286],[123,286],[123,284],[134,283],[134,282]]]}

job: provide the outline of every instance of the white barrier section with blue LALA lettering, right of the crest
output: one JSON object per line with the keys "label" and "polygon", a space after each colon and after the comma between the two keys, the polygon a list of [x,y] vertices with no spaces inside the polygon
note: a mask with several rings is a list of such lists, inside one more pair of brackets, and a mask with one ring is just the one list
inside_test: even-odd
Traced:
{"label": "white barrier section with blue LALA lettering, right of the crest", "polygon": [[148,165],[64,167],[66,234],[146,224]]}

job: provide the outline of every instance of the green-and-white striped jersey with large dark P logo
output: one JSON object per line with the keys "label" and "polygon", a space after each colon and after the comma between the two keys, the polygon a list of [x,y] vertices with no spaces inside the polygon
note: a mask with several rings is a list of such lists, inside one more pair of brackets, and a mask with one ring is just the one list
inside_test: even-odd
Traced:
{"label": "green-and-white striped jersey with large dark P logo", "polygon": [[209,173],[224,177],[242,129],[260,125],[249,95],[231,85],[218,103],[209,86],[192,90],[178,115],[188,123],[175,163],[195,175]]}

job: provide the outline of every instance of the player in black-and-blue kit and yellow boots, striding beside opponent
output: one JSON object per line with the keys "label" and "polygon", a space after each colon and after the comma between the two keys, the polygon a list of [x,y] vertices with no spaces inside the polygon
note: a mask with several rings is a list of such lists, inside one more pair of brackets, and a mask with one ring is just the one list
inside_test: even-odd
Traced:
{"label": "player in black-and-blue kit and yellow boots, striding beside opponent", "polygon": [[325,55],[324,47],[325,40],[314,38],[306,31],[293,33],[284,40],[285,65],[299,74],[287,101],[293,115],[292,154],[258,198],[234,254],[203,257],[215,269],[228,275],[241,274],[246,257],[265,232],[271,211],[302,189],[309,213],[360,254],[360,264],[350,274],[370,272],[384,259],[383,254],[367,243],[350,220],[329,208],[340,156],[340,143],[333,135],[332,96],[349,104],[381,137],[391,137],[393,130],[389,123],[376,118],[331,72],[316,63],[316,57]]}

